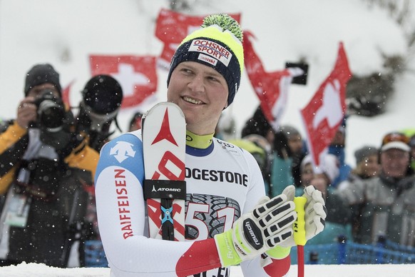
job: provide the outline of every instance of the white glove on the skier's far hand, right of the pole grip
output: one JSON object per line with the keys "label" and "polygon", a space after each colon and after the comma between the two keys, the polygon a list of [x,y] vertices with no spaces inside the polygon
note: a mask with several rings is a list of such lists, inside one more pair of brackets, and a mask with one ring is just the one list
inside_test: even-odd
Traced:
{"label": "white glove on the skier's far hand, right of the pole grip", "polygon": [[[305,203],[305,239],[308,241],[314,238],[318,233],[322,232],[327,217],[327,208],[324,206],[324,198],[321,191],[314,186],[304,188],[303,197],[307,198]],[[282,247],[295,246],[294,236],[290,236],[287,240],[279,244]]]}

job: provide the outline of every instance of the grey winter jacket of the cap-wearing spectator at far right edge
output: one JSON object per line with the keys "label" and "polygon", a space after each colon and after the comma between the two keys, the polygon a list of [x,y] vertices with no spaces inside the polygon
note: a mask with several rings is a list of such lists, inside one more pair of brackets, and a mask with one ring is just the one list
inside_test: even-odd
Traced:
{"label": "grey winter jacket of the cap-wearing spectator at far right edge", "polygon": [[355,179],[337,190],[352,208],[354,241],[376,243],[384,237],[415,246],[415,176],[399,180],[381,174]]}

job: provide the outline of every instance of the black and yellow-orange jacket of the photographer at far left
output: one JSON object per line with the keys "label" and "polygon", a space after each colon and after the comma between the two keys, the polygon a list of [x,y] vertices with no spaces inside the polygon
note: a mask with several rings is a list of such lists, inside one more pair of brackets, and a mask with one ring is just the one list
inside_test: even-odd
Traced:
{"label": "black and yellow-orange jacket of the photographer at far left", "polygon": [[[0,258],[9,263],[68,265],[72,243],[81,236],[86,187],[93,186],[99,158],[71,128],[66,126],[68,132],[51,141],[62,138],[62,146],[51,146],[41,139],[45,134],[40,129],[28,131],[16,121],[0,126],[0,193],[6,198]],[[21,203],[23,216],[14,211],[16,203]]]}

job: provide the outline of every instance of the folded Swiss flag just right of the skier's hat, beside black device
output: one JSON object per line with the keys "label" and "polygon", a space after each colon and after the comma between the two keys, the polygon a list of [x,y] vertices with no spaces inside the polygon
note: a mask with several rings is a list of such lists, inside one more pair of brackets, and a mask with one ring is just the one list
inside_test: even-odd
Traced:
{"label": "folded Swiss flag just right of the skier's hat, beside black device", "polygon": [[292,79],[303,71],[299,68],[284,69],[282,71],[266,72],[260,57],[252,46],[255,36],[250,31],[244,31],[244,59],[245,69],[252,87],[260,99],[260,106],[267,121],[273,129],[278,130],[282,115],[287,106],[288,90]]}

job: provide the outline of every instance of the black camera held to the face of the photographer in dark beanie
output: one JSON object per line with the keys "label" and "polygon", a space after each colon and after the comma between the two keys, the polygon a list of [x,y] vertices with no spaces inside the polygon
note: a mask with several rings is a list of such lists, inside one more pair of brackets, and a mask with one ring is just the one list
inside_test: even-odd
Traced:
{"label": "black camera held to the face of the photographer in dark beanie", "polygon": [[50,89],[41,91],[41,94],[36,98],[34,104],[38,107],[39,127],[46,129],[46,131],[55,133],[63,129],[63,123],[66,117],[65,107],[63,101],[58,96],[53,94]]}

